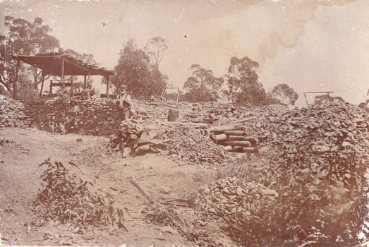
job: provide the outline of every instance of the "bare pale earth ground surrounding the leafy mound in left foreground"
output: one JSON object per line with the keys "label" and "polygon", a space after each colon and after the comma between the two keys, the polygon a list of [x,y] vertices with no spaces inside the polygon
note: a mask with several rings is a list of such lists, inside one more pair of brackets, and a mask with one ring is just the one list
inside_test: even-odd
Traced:
{"label": "bare pale earth ground surrounding the leafy mound in left foreground", "polygon": [[[82,141],[77,141],[81,138]],[[8,245],[73,245],[73,246],[188,246],[178,231],[157,227],[145,221],[143,210],[147,199],[127,179],[132,177],[154,200],[193,198],[203,183],[215,179],[217,171],[197,165],[175,162],[175,157],[145,155],[121,158],[107,155],[108,138],[89,135],[59,135],[35,129],[0,129],[4,143],[0,150],[0,233]],[[84,180],[94,181],[99,193],[109,192],[116,205],[125,209],[125,227],[91,228],[81,231],[70,225],[50,222],[34,227],[32,202],[41,188],[38,165],[48,157],[52,161],[75,162]],[[164,187],[170,193],[162,193]],[[187,207],[183,217],[195,217]],[[186,215],[186,216],[184,216]]]}

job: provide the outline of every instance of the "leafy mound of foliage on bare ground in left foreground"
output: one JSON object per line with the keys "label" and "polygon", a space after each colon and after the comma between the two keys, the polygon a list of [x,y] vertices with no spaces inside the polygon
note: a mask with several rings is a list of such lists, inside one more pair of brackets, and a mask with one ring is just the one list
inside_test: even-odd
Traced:
{"label": "leafy mound of foliage on bare ground in left foreground", "polygon": [[[36,225],[42,225],[48,220],[59,221],[61,224],[72,223],[75,226],[89,224],[123,225],[123,211],[113,206],[111,195],[98,195],[90,191],[88,186],[94,186],[89,181],[83,181],[61,162],[50,162],[50,158],[40,164],[46,166],[42,173],[43,189],[35,200],[35,210],[40,219]],[[69,167],[77,167],[69,162]],[[78,167],[77,167],[78,168]]]}

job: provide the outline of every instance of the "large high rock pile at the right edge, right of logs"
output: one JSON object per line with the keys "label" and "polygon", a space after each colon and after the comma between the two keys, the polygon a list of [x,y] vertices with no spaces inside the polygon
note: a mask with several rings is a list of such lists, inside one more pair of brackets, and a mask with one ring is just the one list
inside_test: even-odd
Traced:
{"label": "large high rock pile at the right edge, right of logs", "polygon": [[254,133],[267,136],[263,145],[279,147],[289,162],[338,158],[346,147],[365,148],[368,140],[369,115],[352,104],[332,102],[266,118],[254,122]]}

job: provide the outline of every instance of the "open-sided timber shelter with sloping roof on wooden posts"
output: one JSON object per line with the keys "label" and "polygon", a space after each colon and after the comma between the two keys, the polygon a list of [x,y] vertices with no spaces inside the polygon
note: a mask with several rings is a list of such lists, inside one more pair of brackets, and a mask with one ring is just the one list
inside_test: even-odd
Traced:
{"label": "open-sided timber shelter with sloping roof on wooden posts", "polygon": [[109,98],[109,77],[114,75],[114,71],[106,68],[98,68],[95,64],[86,64],[82,60],[74,59],[70,54],[48,53],[27,56],[21,54],[13,54],[13,59],[23,61],[42,70],[42,85],[40,96],[44,88],[44,78],[47,75],[59,76],[60,83],[50,83],[50,93],[52,86],[71,86],[71,96],[73,96],[73,81],[64,83],[64,76],[85,76],[83,88],[86,88],[87,76],[104,76],[107,80],[107,98]]}

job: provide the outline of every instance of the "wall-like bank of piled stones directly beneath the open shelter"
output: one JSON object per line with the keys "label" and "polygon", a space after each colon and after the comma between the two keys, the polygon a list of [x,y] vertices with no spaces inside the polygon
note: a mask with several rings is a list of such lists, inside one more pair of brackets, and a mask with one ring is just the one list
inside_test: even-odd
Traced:
{"label": "wall-like bank of piled stones directly beneath the open shelter", "polygon": [[32,125],[44,131],[51,131],[53,123],[61,123],[66,133],[110,135],[122,120],[114,101],[105,98],[73,100],[56,97],[44,102],[31,102],[28,109]]}

